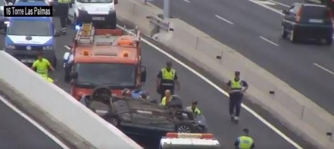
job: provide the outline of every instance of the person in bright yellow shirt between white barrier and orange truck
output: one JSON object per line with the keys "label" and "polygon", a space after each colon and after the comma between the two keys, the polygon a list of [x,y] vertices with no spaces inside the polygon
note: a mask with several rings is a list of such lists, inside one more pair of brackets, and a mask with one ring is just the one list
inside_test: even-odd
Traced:
{"label": "person in bright yellow shirt between white barrier and orange truck", "polygon": [[36,72],[38,74],[48,78],[48,68],[54,71],[54,68],[52,67],[51,63],[46,58],[43,58],[43,53],[39,53],[38,59],[32,64],[31,69],[32,70],[36,69]]}

